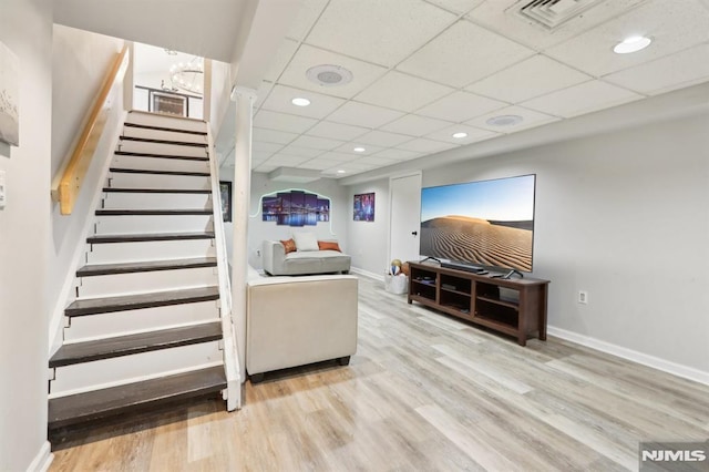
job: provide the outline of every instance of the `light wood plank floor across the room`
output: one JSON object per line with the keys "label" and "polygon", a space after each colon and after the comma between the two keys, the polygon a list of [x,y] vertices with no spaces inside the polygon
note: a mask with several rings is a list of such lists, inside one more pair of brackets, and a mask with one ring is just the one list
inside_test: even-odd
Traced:
{"label": "light wood plank floor across the room", "polygon": [[616,471],[638,442],[709,438],[709,387],[551,337],[522,348],[360,277],[359,348],[138,427],[81,434],[52,471]]}

